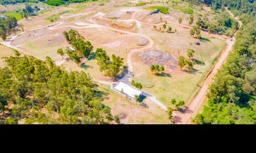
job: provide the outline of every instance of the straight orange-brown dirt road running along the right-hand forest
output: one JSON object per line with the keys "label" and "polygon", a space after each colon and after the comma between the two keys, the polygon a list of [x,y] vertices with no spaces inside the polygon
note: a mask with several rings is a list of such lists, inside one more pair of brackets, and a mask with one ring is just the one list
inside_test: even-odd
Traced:
{"label": "straight orange-brown dirt road running along the right-hand forest", "polygon": [[[225,9],[227,10],[227,8],[225,8]],[[228,13],[232,17],[234,17],[234,15],[230,11],[228,11]],[[241,25],[243,25],[243,23],[237,17],[236,17],[236,20],[237,20],[237,22],[239,22],[239,28],[240,28]],[[237,31],[236,31],[236,33],[237,33]],[[184,113],[176,112],[177,115],[174,115],[176,124],[192,124],[191,117],[195,117],[196,113],[200,110],[201,106],[203,105],[204,100],[206,98],[206,94],[208,92],[209,85],[211,85],[214,76],[218,72],[218,69],[220,69],[222,64],[225,63],[225,61],[228,57],[228,53],[232,50],[232,47],[233,47],[234,43],[236,42],[236,38],[235,38],[236,33],[232,37],[232,41],[231,40],[227,41],[228,46],[227,46],[226,50],[224,50],[222,52],[222,54],[220,55],[218,62],[216,62],[211,73],[204,80],[204,84],[202,85],[202,87],[198,91],[198,93],[196,94],[195,98],[191,101],[191,103],[189,103],[185,112]]]}

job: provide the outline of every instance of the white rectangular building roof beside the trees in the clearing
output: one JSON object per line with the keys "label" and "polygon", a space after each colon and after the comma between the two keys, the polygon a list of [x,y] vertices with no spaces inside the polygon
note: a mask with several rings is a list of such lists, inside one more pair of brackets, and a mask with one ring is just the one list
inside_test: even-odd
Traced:
{"label": "white rectangular building roof beside the trees in the clearing", "polygon": [[114,89],[116,89],[119,92],[123,92],[124,94],[126,94],[127,96],[130,96],[131,98],[134,98],[135,95],[140,96],[142,94],[141,91],[134,89],[133,87],[131,87],[130,85],[124,84],[124,82],[119,82]]}

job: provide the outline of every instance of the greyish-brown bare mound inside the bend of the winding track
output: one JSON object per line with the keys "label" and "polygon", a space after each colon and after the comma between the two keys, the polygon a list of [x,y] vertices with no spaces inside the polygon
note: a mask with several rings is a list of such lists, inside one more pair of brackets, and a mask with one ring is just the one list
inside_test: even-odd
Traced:
{"label": "greyish-brown bare mound inside the bend of the winding track", "polygon": [[139,54],[140,60],[143,61],[147,66],[152,64],[163,65],[168,70],[177,68],[178,61],[170,54],[161,50],[147,50]]}

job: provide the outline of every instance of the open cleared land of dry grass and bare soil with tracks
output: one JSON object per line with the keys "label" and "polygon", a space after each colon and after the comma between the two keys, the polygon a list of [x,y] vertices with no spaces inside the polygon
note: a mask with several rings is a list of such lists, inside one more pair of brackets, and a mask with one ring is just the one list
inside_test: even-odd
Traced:
{"label": "open cleared land of dry grass and bare soil with tracks", "polygon": [[[65,8],[56,8],[28,20],[20,20],[19,23],[24,25],[25,32],[20,31],[19,35],[13,37],[14,39],[9,36],[4,44],[40,59],[49,56],[67,71],[89,73],[93,79],[102,83],[99,86],[100,91],[106,92],[106,98],[102,103],[109,106],[114,115],[125,114],[124,119],[121,120],[124,124],[170,123],[164,112],[165,108],[163,110],[163,107],[159,107],[155,102],[170,106],[172,98],[186,102],[193,98],[198,85],[201,84],[221,50],[225,48],[227,36],[207,34],[202,31],[201,40],[191,37],[189,34],[191,26],[188,25],[189,14],[177,9],[178,6],[187,7],[188,3],[179,1],[176,4],[171,1],[168,4],[170,14],[159,12],[152,15],[149,15],[152,10],[144,8],[164,4],[135,6],[136,2],[126,1],[108,1],[104,5],[100,3],[102,1],[70,4]],[[211,10],[197,9],[195,8],[195,14],[211,13]],[[184,20],[182,24],[178,22],[179,17]],[[159,18],[162,18],[162,21]],[[195,22],[197,18],[195,17]],[[167,27],[172,27],[171,33],[154,29],[154,25],[158,29],[165,21]],[[132,74],[129,77],[125,76],[127,80],[131,81],[132,78],[140,82],[146,87],[143,90],[154,100],[146,98],[143,103],[136,104],[111,91],[109,85],[103,84],[113,82],[99,71],[93,55],[81,66],[68,61],[67,56],[63,60],[56,51],[58,48],[65,49],[71,46],[63,36],[63,31],[70,29],[75,29],[84,36],[85,40],[90,41],[94,52],[97,48],[104,48],[108,55],[115,54],[124,58],[124,65],[128,66],[129,74]],[[196,45],[196,42],[200,42],[200,45]],[[193,69],[184,68],[180,71],[177,61],[180,55],[188,59],[188,49],[195,50],[193,59],[198,64],[195,64]],[[8,52],[6,56],[9,54]],[[163,65],[165,71],[154,75],[150,71],[151,64]]]}

